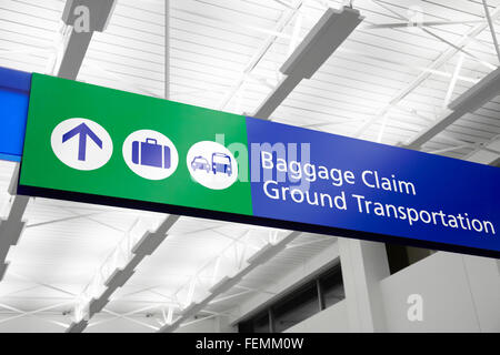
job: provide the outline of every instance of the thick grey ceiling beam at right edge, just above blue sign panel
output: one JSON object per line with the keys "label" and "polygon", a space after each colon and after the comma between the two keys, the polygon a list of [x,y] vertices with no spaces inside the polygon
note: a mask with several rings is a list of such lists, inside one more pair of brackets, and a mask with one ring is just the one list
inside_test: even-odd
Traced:
{"label": "thick grey ceiling beam at right edge, just above blue sign panel", "polygon": [[497,68],[476,85],[452,101],[448,105],[448,108],[452,110],[451,113],[439,118],[436,122],[419,132],[417,136],[412,138],[410,142],[403,144],[402,146],[414,150],[420,149],[426,142],[430,141],[464,114],[474,112],[499,93],[500,68]]}

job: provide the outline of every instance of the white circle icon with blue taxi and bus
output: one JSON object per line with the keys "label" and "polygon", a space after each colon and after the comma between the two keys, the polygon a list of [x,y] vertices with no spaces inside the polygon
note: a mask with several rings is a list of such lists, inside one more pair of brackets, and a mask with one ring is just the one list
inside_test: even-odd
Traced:
{"label": "white circle icon with blue taxi and bus", "polygon": [[191,176],[211,190],[223,190],[238,179],[238,163],[222,144],[202,141],[189,149],[187,158]]}

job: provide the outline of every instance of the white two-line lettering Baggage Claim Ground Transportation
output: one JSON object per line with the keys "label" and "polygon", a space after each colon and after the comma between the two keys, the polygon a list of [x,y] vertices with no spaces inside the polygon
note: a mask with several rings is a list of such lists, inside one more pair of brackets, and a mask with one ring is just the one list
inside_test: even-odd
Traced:
{"label": "white two-line lettering Baggage Claim Ground Transportation", "polygon": [[[288,174],[293,181],[306,180],[309,183],[317,181],[330,181],[336,187],[344,185],[356,185],[358,179],[354,172],[340,169],[328,169],[323,165],[302,163],[298,161],[287,161],[281,158],[273,159],[271,152],[261,151],[261,168],[264,176],[278,176]],[[379,172],[366,170],[359,176],[361,183],[370,189],[383,190],[398,194],[417,195],[416,184],[397,179],[394,174],[389,178],[381,176]],[[417,223],[440,225],[450,229],[474,231],[478,233],[496,234],[494,225],[491,221],[482,221],[470,217],[468,213],[449,214],[439,211],[427,211],[410,206],[394,205],[368,200],[360,194],[346,194],[340,191],[338,194],[327,192],[310,191],[300,186],[284,186],[283,183],[272,179],[264,179],[263,192],[271,200],[292,201],[293,203],[307,203],[312,206],[336,209],[347,211],[348,205],[353,205],[361,214],[371,214],[378,217],[389,217],[406,221],[410,225]],[[350,201],[350,203],[349,203]]]}

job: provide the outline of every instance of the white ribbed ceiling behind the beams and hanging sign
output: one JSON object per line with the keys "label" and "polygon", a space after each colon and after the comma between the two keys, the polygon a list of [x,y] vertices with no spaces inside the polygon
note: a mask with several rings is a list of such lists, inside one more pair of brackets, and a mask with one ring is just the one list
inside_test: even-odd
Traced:
{"label": "white ribbed ceiling behind the beams and hanging sign", "polygon": [[[254,112],[280,79],[281,64],[327,6],[342,4],[308,0],[297,11],[287,2],[299,3],[171,0],[170,99],[234,113]],[[296,88],[271,120],[404,144],[498,65],[481,0],[356,0],[353,6],[364,21],[310,80]],[[488,6],[493,12],[500,1],[488,0]],[[47,73],[60,47],[63,7],[63,0],[0,0],[0,67]],[[108,29],[94,33],[78,80],[163,98],[164,12],[161,0],[118,0]],[[419,28],[407,26],[409,21],[452,23]],[[391,23],[403,26],[373,28]],[[480,26],[477,34],[470,34]],[[460,41],[467,43],[463,50],[448,55]],[[496,98],[448,126],[422,150],[469,159],[481,150],[480,144],[499,136],[500,98]],[[11,200],[7,189],[13,171],[13,163],[0,162],[3,213]],[[154,230],[164,215],[32,199],[24,219],[28,227],[9,252],[11,264],[0,283],[0,329],[9,329],[14,321],[6,321],[10,317],[38,317],[62,332],[71,322],[71,314],[66,314],[117,245],[130,233]],[[234,273],[241,266],[234,260],[288,233],[181,217],[90,322],[89,331],[118,320],[152,332],[164,323],[166,308],[180,313],[187,298],[202,297],[214,280]],[[242,300],[266,291],[333,243],[333,237],[301,234],[203,314],[234,312]],[[216,275],[214,263],[219,264]]]}

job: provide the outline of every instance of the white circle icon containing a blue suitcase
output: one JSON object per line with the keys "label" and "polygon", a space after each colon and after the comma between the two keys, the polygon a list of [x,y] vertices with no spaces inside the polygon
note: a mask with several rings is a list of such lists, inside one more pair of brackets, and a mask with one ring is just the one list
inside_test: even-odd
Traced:
{"label": "white circle icon containing a blue suitcase", "polygon": [[139,176],[149,180],[169,178],[179,164],[176,145],[157,131],[140,130],[131,133],[123,143],[123,159]]}

